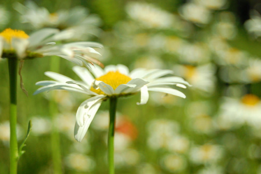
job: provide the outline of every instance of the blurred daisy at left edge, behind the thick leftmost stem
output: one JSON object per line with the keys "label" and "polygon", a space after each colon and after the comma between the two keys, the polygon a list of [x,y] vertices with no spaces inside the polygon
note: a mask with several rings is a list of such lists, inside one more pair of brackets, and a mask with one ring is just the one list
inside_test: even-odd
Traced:
{"label": "blurred daisy at left edge, behind the thick leftmost stem", "polygon": [[[17,139],[21,140],[23,138],[23,129],[20,125],[17,125]],[[10,141],[10,123],[5,121],[0,123],[0,140],[7,146],[9,146]]]}

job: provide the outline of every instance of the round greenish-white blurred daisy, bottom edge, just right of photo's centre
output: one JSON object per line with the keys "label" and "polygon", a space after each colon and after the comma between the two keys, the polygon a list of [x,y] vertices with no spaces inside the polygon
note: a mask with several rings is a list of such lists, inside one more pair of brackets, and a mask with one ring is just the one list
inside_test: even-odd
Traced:
{"label": "round greenish-white blurred daisy, bottom edge, just right of photo's centre", "polygon": [[171,173],[182,171],[186,168],[186,159],[181,155],[167,154],[162,157],[161,167]]}

